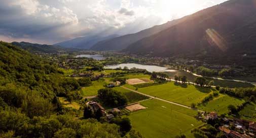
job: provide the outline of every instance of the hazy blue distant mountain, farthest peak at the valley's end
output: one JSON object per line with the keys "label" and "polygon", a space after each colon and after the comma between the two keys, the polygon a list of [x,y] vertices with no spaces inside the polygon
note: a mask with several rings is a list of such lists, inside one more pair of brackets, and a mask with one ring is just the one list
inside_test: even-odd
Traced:
{"label": "hazy blue distant mountain, farthest peak at the valley's end", "polygon": [[99,41],[112,39],[118,36],[119,35],[117,34],[109,35],[109,36],[99,36],[99,35],[85,36],[85,37],[79,37],[79,38],[59,42],[54,45],[60,45],[61,47],[64,47],[64,48],[90,49],[94,44],[96,44]]}

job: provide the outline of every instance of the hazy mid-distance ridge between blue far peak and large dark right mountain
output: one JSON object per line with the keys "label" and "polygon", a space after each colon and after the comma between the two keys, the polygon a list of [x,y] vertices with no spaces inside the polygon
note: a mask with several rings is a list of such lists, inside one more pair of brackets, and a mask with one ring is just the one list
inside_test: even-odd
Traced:
{"label": "hazy mid-distance ridge between blue far peak and large dark right mountain", "polygon": [[124,36],[120,36],[120,37],[100,41],[100,42],[96,43],[95,45],[93,45],[91,50],[95,50],[95,51],[123,50],[123,49],[127,48],[128,45],[130,45],[130,44],[132,44],[132,43],[134,43],[134,42],[136,42],[136,41],[138,41],[142,38],[151,36],[155,33],[158,33],[162,30],[165,30],[165,29],[179,23],[180,21],[182,21],[182,19],[173,20],[171,22],[167,22],[167,23],[162,24],[162,25],[157,25],[157,26],[154,26],[154,27],[149,28],[149,29],[142,30],[142,31],[137,32],[137,33],[127,34],[127,35],[124,35]]}

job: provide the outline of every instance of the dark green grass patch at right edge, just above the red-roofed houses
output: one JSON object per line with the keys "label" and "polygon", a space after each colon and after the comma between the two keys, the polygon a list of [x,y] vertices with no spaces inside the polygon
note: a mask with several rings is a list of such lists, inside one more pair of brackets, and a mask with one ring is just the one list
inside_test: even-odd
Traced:
{"label": "dark green grass patch at right edge, just above the red-roofed houses", "polygon": [[256,121],[256,104],[249,103],[247,104],[243,110],[239,112],[239,115],[243,119]]}

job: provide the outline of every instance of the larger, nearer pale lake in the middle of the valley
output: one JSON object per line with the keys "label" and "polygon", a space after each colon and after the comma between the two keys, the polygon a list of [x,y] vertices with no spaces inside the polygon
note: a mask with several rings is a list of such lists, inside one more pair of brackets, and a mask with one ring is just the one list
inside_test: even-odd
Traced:
{"label": "larger, nearer pale lake in the middle of the valley", "polygon": [[119,64],[119,65],[109,65],[105,66],[104,68],[106,69],[116,69],[121,67],[122,69],[124,67],[128,67],[129,69],[131,68],[138,68],[138,69],[145,69],[149,72],[175,72],[176,70],[171,70],[166,67],[160,67],[160,66],[152,66],[152,65],[140,65],[140,64],[134,64],[134,63],[128,63],[128,64]]}

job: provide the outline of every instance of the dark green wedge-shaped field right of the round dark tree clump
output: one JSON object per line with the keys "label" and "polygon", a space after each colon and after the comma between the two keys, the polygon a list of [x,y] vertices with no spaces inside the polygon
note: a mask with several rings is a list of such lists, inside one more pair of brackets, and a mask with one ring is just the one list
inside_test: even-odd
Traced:
{"label": "dark green wedge-shaped field right of the round dark tree clump", "polygon": [[114,87],[113,89],[116,89],[117,91],[120,91],[123,93],[127,99],[128,99],[128,104],[136,103],[145,99],[149,99],[147,96],[143,96],[137,93],[134,93],[133,91],[130,91],[128,89],[124,89],[122,87]]}

